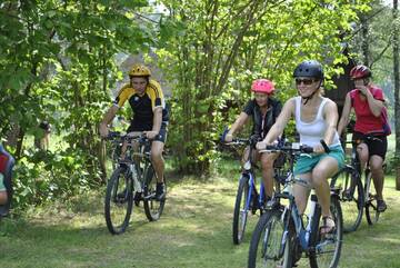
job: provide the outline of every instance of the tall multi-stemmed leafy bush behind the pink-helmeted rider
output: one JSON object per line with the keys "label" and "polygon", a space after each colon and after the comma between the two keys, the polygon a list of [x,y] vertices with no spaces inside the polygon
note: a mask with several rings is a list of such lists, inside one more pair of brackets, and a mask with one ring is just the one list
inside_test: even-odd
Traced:
{"label": "tall multi-stemmed leafy bush behind the pink-helmeted rider", "polygon": [[[217,158],[214,140],[250,97],[251,80],[272,79],[282,101],[296,95],[291,73],[303,59],[337,73],[340,33],[350,29],[362,3],[348,1],[176,1],[166,26],[176,38],[158,50],[159,64],[174,81],[172,126],[177,165],[207,172]],[[328,80],[326,87],[330,87]]]}

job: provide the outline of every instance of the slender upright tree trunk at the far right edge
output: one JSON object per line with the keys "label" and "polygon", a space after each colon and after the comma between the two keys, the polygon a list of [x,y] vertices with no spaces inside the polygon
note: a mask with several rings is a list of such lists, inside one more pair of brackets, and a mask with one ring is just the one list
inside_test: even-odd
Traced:
{"label": "slender upright tree trunk at the far right edge", "polygon": [[394,129],[396,129],[396,189],[400,190],[400,71],[399,71],[399,19],[398,0],[393,0],[393,77],[394,77]]}

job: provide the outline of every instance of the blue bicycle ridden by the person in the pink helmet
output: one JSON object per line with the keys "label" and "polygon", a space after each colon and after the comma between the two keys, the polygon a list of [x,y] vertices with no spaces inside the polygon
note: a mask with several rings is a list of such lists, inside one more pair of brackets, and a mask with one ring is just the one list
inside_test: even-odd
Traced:
{"label": "blue bicycle ridden by the person in the pink helmet", "polygon": [[[249,212],[256,215],[257,211],[262,214],[266,202],[266,191],[262,180],[260,180],[260,191],[256,186],[256,161],[253,159],[253,151],[256,150],[257,140],[249,139],[233,139],[227,143],[229,146],[249,146],[249,160],[243,165],[242,172],[239,179],[238,191],[234,201],[233,221],[232,221],[232,239],[234,245],[242,242]],[[279,173],[277,170],[276,173]]]}

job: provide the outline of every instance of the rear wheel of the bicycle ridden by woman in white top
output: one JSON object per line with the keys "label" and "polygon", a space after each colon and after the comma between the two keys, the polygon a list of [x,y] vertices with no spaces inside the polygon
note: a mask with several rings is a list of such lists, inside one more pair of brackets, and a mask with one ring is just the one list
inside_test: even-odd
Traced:
{"label": "rear wheel of the bicycle ridden by woman in white top", "polygon": [[312,218],[310,237],[311,250],[309,252],[311,268],[336,268],[339,264],[343,238],[343,217],[339,197],[336,195],[331,196],[330,209],[336,225],[334,231],[332,234],[324,236],[320,234],[322,217],[319,205],[317,206],[314,217]]}

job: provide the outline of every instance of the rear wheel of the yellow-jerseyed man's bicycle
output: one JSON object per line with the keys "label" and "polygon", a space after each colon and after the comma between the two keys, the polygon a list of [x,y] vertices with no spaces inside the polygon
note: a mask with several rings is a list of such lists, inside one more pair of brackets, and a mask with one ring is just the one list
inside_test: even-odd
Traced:
{"label": "rear wheel of the yellow-jerseyed man's bicycle", "polygon": [[[164,205],[166,198],[162,200],[156,199],[156,186],[157,186],[157,175],[153,166],[150,163],[144,168],[143,172],[144,185],[143,185],[143,207],[146,217],[150,221],[159,220]],[[167,195],[167,180],[164,178],[164,190]]]}

